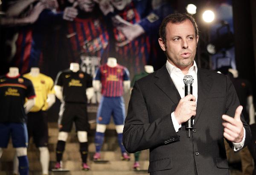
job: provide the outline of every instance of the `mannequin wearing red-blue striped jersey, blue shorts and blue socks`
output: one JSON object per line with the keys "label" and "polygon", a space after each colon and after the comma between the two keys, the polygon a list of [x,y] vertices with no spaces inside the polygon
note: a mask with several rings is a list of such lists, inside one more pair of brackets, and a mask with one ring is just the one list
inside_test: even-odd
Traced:
{"label": "mannequin wearing red-blue striped jersey, blue shorts and blue socks", "polygon": [[106,64],[100,66],[93,80],[93,88],[100,90],[102,84],[102,99],[97,113],[97,124],[95,133],[96,153],[93,159],[100,159],[100,150],[104,141],[105,130],[110,122],[111,114],[116,124],[116,133],[123,160],[130,160],[124,146],[122,145],[122,130],[124,127],[125,108],[122,97],[123,90],[127,92],[130,88],[130,77],[127,68],[118,65],[116,58],[109,57]]}

